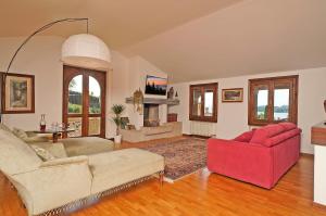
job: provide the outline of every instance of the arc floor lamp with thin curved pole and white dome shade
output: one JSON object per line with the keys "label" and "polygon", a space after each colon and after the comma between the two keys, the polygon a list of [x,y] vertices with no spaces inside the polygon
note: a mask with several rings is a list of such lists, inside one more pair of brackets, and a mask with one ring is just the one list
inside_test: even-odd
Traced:
{"label": "arc floor lamp with thin curved pole and white dome shade", "polygon": [[[62,18],[53,21],[36,29],[30,34],[16,49],[11,58],[5,72],[1,72],[0,97],[2,103],[2,87],[5,84],[5,77],[22,48],[36,35],[52,27],[59,23],[65,22],[86,22],[86,34],[70,36],[62,46],[61,60],[64,64],[82,66],[95,69],[108,69],[111,62],[111,53],[108,46],[97,36],[88,34],[88,18]],[[2,107],[2,106],[1,106]],[[0,122],[2,122],[2,111],[0,112]]]}

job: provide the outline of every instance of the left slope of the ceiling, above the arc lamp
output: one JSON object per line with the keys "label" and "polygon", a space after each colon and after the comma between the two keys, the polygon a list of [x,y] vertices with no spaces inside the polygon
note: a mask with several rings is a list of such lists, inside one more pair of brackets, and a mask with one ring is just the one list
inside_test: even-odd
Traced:
{"label": "left slope of the ceiling, above the arc lamp", "polygon": [[[48,22],[88,17],[91,34],[120,49],[241,0],[1,0],[0,37],[27,36]],[[47,35],[85,33],[83,23],[57,25]]]}

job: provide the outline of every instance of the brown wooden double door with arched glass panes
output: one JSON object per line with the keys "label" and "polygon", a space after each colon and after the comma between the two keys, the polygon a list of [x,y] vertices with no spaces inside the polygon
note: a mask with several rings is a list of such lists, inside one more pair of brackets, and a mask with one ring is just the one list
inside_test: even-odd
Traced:
{"label": "brown wooden double door with arched glass panes", "polygon": [[74,125],[68,137],[105,136],[105,73],[64,66],[63,123]]}

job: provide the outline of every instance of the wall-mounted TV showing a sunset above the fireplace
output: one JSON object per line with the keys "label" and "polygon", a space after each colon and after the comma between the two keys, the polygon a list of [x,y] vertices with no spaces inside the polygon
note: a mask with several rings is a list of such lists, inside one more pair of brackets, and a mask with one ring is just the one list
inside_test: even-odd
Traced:
{"label": "wall-mounted TV showing a sunset above the fireplace", "polygon": [[147,75],[145,93],[165,96],[167,88],[167,78]]}

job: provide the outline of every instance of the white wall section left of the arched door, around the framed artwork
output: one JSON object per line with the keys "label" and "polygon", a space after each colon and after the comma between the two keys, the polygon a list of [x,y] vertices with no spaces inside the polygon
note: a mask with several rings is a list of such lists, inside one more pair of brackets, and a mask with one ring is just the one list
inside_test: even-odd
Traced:
{"label": "white wall section left of the arched door, around the framed artwork", "polygon": [[[24,38],[0,38],[0,69],[9,61]],[[62,118],[62,63],[60,37],[37,37],[24,47],[12,64],[10,73],[35,75],[35,114],[4,114],[3,123],[10,127],[36,129],[40,114],[48,123]]]}

